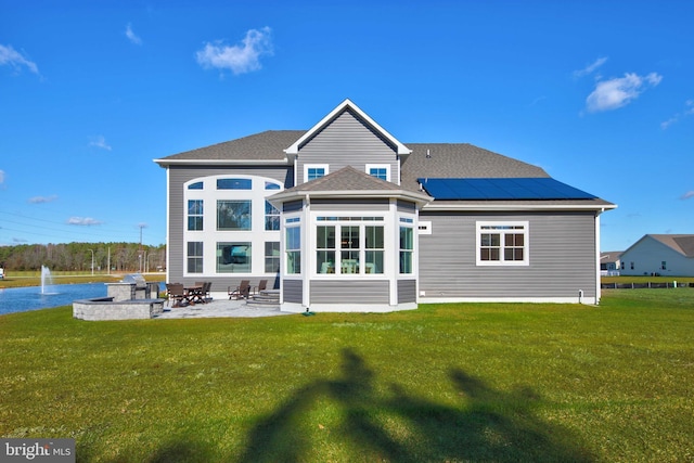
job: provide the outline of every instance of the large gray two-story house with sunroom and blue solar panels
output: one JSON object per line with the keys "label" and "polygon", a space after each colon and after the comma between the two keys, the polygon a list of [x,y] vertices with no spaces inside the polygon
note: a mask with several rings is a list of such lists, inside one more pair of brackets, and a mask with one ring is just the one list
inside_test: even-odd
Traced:
{"label": "large gray two-story house with sunroom and blue solar panels", "polygon": [[308,131],[155,162],[168,281],[269,279],[290,311],[600,299],[614,204],[471,144],[406,145],[349,100]]}

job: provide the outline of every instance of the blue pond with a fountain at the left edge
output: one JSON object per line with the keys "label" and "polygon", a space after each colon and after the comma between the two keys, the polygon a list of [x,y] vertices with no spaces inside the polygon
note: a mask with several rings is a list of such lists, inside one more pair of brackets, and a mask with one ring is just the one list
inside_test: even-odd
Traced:
{"label": "blue pond with a fountain at the left edge", "polygon": [[50,307],[70,306],[77,299],[106,297],[104,283],[54,284],[41,294],[40,286],[0,288],[0,316]]}

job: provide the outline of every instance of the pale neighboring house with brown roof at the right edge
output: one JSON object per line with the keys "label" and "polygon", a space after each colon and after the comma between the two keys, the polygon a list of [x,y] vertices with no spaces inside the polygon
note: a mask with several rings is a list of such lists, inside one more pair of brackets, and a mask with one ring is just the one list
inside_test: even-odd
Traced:
{"label": "pale neighboring house with brown roof at the right edge", "polygon": [[621,255],[622,275],[694,276],[694,234],[646,234]]}

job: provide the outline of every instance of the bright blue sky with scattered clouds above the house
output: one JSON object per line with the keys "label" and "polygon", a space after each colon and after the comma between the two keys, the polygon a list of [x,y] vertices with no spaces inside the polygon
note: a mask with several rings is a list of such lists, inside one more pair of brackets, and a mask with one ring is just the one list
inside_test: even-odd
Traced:
{"label": "bright blue sky with scattered clouds above the house", "polygon": [[0,245],[166,241],[152,159],[349,98],[694,233],[694,2],[0,0]]}

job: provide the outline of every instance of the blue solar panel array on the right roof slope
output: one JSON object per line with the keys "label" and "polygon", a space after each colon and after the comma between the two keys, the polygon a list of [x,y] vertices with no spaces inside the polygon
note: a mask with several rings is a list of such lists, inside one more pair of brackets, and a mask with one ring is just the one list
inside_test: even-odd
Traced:
{"label": "blue solar panel array on the right roof slope", "polygon": [[417,181],[436,200],[594,200],[552,178],[425,179]]}

